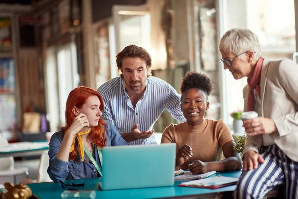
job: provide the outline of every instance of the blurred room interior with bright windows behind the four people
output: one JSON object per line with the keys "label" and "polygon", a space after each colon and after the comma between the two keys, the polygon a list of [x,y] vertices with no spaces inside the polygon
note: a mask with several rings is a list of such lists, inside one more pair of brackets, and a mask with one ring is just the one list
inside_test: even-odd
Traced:
{"label": "blurred room interior with bright windows behind the four people", "polygon": [[[235,82],[224,71],[219,39],[231,28],[249,28],[263,56],[296,59],[297,1],[0,0],[0,135],[10,143],[46,140],[65,124],[69,92],[79,85],[96,90],[116,77],[115,56],[131,43],[149,51],[153,75],[178,92],[186,71],[209,76],[206,117],[223,118],[232,129],[230,113],[243,109],[247,80]],[[154,129],[176,122],[164,112]],[[15,166],[39,164],[23,160]],[[37,179],[37,171],[30,174]]]}

